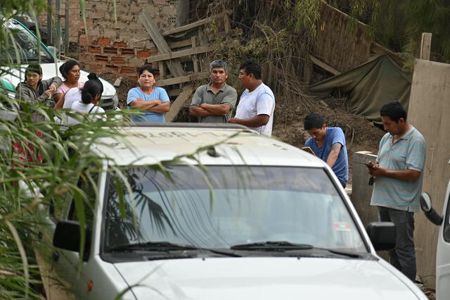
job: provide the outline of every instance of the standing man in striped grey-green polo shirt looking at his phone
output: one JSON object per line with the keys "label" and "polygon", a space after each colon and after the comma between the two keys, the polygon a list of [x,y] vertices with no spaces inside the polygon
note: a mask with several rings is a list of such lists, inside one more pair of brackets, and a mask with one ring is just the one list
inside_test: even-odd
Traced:
{"label": "standing man in striped grey-green polo shirt looking at his phone", "polygon": [[378,206],[380,221],[396,225],[390,263],[415,281],[414,213],[419,211],[425,139],[406,121],[406,111],[399,102],[385,104],[380,115],[387,133],[380,141],[376,162],[369,161],[368,171],[375,177],[371,205]]}

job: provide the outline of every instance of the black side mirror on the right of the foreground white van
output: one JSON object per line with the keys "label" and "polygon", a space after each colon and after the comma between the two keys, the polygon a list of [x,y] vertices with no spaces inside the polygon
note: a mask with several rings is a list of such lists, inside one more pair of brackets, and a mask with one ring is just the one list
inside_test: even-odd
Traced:
{"label": "black side mirror on the right of the foreground white van", "polygon": [[371,222],[368,223],[366,231],[376,251],[394,249],[397,237],[394,223]]}

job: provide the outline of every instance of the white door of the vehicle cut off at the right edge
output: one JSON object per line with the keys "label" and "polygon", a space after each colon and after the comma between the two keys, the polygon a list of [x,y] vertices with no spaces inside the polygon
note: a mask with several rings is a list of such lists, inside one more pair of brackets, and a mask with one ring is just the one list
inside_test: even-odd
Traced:
{"label": "white door of the vehicle cut off at the right edge", "polygon": [[450,294],[450,181],[444,201],[444,223],[439,229],[436,254],[437,299],[447,299]]}

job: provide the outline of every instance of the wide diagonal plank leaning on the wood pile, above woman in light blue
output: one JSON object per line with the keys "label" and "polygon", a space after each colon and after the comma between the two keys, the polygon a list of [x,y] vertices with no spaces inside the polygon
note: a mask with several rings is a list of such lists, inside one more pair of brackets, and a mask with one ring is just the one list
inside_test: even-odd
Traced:
{"label": "wide diagonal plank leaning on the wood pile, above woman in light blue", "polygon": [[[148,32],[148,35],[153,39],[153,42],[158,47],[158,51],[162,54],[171,53],[169,44],[165,41],[164,37],[162,37],[160,30],[155,25],[155,23],[148,18],[146,11],[142,11],[141,15],[139,15],[139,19],[141,20],[144,27]],[[185,75],[184,70],[181,67],[181,63],[177,60],[170,61],[167,63],[167,68],[169,68],[170,73],[174,75],[174,77],[180,77]]]}

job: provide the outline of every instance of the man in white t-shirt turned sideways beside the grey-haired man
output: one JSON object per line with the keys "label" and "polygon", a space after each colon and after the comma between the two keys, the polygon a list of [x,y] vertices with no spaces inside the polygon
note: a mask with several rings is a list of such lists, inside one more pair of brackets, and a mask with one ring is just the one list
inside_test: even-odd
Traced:
{"label": "man in white t-shirt turned sideways beside the grey-haired man", "polygon": [[261,135],[272,135],[275,96],[261,80],[261,67],[255,61],[240,65],[240,85],[245,91],[240,95],[236,115],[229,123],[245,125]]}

